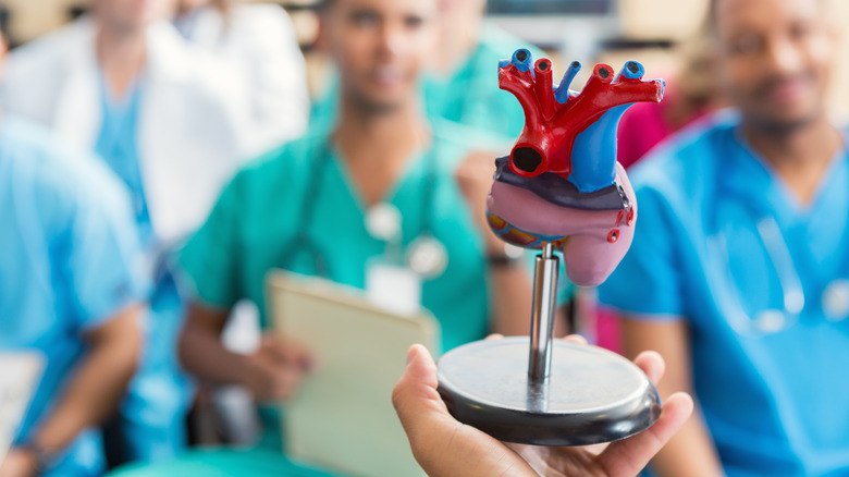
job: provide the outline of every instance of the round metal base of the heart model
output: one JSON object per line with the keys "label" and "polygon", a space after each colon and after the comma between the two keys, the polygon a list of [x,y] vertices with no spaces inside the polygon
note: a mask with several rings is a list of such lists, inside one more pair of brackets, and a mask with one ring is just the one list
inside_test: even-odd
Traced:
{"label": "round metal base of the heart model", "polygon": [[657,391],[628,359],[553,340],[551,375],[528,379],[528,338],[478,341],[439,360],[439,391],[457,420],[506,442],[588,445],[641,432],[661,415]]}

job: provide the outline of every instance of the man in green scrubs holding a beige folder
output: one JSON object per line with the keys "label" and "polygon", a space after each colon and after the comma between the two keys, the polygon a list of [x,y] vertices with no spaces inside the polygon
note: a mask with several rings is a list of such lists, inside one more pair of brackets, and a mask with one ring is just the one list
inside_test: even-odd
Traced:
{"label": "man in green scrubs holding a beige folder", "polygon": [[[373,259],[396,246],[413,253],[417,238],[445,247],[444,270],[421,278],[416,303],[440,321],[445,348],[490,331],[527,333],[528,273],[485,224],[493,156],[485,170],[478,157],[463,162],[475,135],[445,131],[420,109],[417,80],[435,41],[435,0],[323,4],[321,41],[341,72],[339,122],[331,132],[316,125],[243,169],[181,254],[196,294],[180,352],[199,379],[245,384],[260,403],[287,400],[313,357],[273,334],[249,356],[227,352],[220,335],[233,305],[248,298],[261,306],[273,268],[365,289]],[[386,208],[399,212],[398,243],[368,225]],[[268,330],[264,310],[261,321]],[[276,408],[261,409],[261,448],[279,451]]]}

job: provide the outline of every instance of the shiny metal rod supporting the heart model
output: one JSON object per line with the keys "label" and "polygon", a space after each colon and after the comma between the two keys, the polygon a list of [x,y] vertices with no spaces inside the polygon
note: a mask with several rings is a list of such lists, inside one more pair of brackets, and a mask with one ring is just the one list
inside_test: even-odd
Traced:
{"label": "shiny metal rod supporting the heart model", "polygon": [[557,309],[557,272],[559,259],[554,245],[546,243],[537,256],[533,269],[533,308],[531,309],[530,358],[528,378],[544,381],[551,369],[551,348],[554,338],[554,316]]}

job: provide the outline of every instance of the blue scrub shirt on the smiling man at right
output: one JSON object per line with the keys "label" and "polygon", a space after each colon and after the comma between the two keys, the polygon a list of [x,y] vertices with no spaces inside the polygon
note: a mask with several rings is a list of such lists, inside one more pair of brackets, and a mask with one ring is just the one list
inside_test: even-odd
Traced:
{"label": "blue scrub shirt on the smiling man at right", "polygon": [[[633,169],[633,244],[599,297],[688,321],[696,394],[728,476],[845,476],[849,319],[826,318],[821,297],[849,278],[849,158],[801,205],[738,125],[731,111],[700,121]],[[762,236],[759,221],[778,232]],[[784,303],[797,277],[795,316]],[[785,311],[772,331],[754,320],[767,309]]]}

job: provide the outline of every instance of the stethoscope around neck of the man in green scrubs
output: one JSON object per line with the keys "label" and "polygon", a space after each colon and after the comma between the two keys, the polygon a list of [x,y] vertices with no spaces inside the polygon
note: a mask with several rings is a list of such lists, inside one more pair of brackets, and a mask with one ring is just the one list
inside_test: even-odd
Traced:
{"label": "stethoscope around neck of the man in green scrubs", "polygon": [[[300,200],[302,209],[296,221],[295,235],[283,248],[283,254],[278,265],[284,269],[291,269],[296,257],[306,252],[312,259],[316,274],[325,279],[332,279],[334,273],[331,264],[324,254],[309,235],[309,228],[316,217],[316,205],[321,194],[321,181],[329,168],[333,154],[328,140],[321,146],[312,148],[310,157],[310,170],[307,186]],[[433,235],[433,199],[438,179],[436,160],[440,157],[436,143],[432,143],[430,151],[419,160],[424,161],[426,174],[423,184],[423,197],[421,200],[420,232],[406,247],[402,247],[401,212],[386,201],[371,206],[365,215],[365,225],[374,238],[386,242],[384,253],[390,264],[403,266],[420,276],[422,279],[432,279],[441,276],[448,262],[448,254],[445,245]]]}

